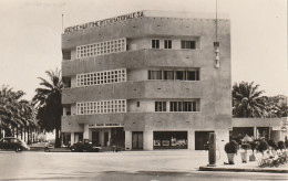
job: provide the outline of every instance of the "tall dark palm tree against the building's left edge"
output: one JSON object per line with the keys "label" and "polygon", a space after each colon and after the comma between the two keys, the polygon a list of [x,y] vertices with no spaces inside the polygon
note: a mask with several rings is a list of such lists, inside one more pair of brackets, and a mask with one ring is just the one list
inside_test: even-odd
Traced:
{"label": "tall dark palm tree against the building's left edge", "polygon": [[59,131],[61,130],[61,89],[63,83],[61,79],[61,72],[58,68],[45,72],[49,81],[39,77],[41,79],[41,87],[35,89],[33,97],[33,104],[38,109],[37,118],[39,125],[47,131],[55,130],[55,147],[60,147],[61,139]]}

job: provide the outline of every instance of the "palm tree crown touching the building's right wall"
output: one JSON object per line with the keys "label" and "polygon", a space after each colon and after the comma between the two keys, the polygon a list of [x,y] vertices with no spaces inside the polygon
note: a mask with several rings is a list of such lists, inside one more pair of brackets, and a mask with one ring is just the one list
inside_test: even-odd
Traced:
{"label": "palm tree crown touching the building's right wall", "polygon": [[254,82],[235,83],[233,86],[233,116],[234,117],[266,117],[266,100],[258,91],[259,85]]}

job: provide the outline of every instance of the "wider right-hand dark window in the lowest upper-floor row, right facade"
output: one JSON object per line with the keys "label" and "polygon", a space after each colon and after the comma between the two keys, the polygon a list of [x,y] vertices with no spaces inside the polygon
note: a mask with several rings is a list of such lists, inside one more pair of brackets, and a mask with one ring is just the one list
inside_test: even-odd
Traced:
{"label": "wider right-hand dark window in the lowest upper-floor row, right facade", "polygon": [[169,102],[169,111],[197,111],[196,102]]}

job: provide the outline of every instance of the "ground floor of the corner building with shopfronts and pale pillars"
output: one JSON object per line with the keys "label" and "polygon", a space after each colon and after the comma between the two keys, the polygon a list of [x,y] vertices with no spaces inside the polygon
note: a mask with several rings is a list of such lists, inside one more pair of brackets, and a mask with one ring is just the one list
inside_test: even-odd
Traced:
{"label": "ground floor of the corner building with shopfronts and pale pillars", "polygon": [[[209,132],[216,132],[220,143],[228,141],[228,130],[144,130],[130,131],[124,127],[88,127],[84,132],[69,132],[71,143],[89,139],[100,147],[121,147],[122,150],[189,149],[205,150]],[[66,134],[66,137],[69,137]],[[64,141],[65,140],[65,141]],[[69,142],[69,138],[63,139]]]}

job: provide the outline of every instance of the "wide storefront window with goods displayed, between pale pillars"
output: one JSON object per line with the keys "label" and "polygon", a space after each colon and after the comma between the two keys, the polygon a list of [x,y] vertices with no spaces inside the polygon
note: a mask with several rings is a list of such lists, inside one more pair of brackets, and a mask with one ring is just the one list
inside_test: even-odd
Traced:
{"label": "wide storefront window with goods displayed, between pale pillars", "polygon": [[154,149],[187,149],[187,131],[154,131]]}

